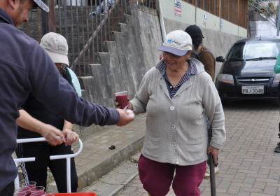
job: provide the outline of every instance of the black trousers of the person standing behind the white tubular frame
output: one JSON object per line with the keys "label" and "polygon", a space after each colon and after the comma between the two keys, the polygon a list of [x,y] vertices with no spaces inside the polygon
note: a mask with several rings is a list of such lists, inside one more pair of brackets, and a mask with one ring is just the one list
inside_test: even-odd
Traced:
{"label": "black trousers of the person standing behind the white tubular frame", "polygon": [[[67,193],[66,183],[66,159],[50,160],[51,155],[73,154],[71,146],[60,144],[50,146],[46,142],[32,142],[18,144],[16,150],[18,158],[35,157],[34,162],[21,163],[22,174],[25,181],[36,181],[36,186],[46,187],[47,170],[50,168],[52,176],[55,178],[59,193]],[[78,176],[74,159],[71,158],[71,193],[76,193],[78,188]]]}

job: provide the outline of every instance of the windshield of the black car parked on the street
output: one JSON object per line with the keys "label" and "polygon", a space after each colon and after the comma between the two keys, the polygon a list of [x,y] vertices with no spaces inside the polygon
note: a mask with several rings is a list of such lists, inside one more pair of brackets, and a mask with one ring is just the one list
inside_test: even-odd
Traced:
{"label": "windshield of the black car parked on the street", "polygon": [[241,42],[232,47],[228,60],[276,59],[279,51],[279,40]]}

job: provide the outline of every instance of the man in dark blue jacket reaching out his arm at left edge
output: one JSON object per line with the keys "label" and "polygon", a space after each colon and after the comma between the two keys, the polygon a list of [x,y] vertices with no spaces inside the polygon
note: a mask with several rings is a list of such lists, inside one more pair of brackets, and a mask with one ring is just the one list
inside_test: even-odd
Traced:
{"label": "man in dark blue jacket reaching out his arm at left edge", "polygon": [[[43,10],[49,8],[34,0]],[[133,116],[125,111],[87,102],[60,76],[50,57],[37,41],[16,29],[27,22],[33,0],[0,0],[0,196],[13,195],[18,167],[16,148],[18,108],[29,93],[62,118],[78,125],[127,125]],[[71,106],[71,107],[69,107]],[[52,141],[61,144],[62,139]]]}

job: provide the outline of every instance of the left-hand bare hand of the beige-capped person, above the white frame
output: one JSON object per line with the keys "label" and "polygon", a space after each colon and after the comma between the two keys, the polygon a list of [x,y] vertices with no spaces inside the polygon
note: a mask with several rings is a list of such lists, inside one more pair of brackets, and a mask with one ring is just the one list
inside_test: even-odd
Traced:
{"label": "left-hand bare hand of the beige-capped person, above the white frame", "polygon": [[45,137],[45,139],[48,141],[48,144],[52,146],[57,146],[65,142],[65,138],[64,135],[62,134],[62,131],[58,130],[52,125],[48,125],[48,124],[43,125],[40,134],[43,137]]}

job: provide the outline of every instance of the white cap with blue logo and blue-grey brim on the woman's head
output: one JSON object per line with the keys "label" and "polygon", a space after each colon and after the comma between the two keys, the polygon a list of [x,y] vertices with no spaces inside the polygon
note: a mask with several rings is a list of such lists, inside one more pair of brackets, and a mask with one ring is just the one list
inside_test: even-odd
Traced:
{"label": "white cap with blue logo and blue-grey brim on the woman's head", "polygon": [[193,43],[190,35],[183,30],[171,31],[165,36],[165,42],[158,47],[158,50],[170,52],[177,56],[186,55],[188,50],[192,50]]}

